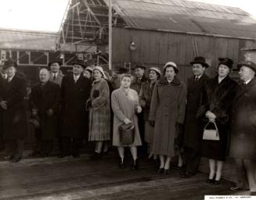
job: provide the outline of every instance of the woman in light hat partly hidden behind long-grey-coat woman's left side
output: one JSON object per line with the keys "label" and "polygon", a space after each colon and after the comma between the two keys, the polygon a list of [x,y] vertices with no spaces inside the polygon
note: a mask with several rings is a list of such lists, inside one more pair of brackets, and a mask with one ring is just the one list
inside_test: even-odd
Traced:
{"label": "woman in light hat partly hidden behind long-grey-coat woman's left side", "polygon": [[[157,67],[151,67],[149,70],[149,78],[146,82],[142,83],[140,92],[139,92],[139,104],[142,106],[144,110],[143,116],[145,120],[145,136],[144,140],[149,145],[148,146],[148,159],[153,157],[152,151],[152,143],[153,143],[153,127],[149,123],[149,115],[150,115],[150,104],[153,93],[153,87],[156,84],[156,81],[160,79],[160,70]],[[157,155],[154,155],[153,159],[157,159]]]}

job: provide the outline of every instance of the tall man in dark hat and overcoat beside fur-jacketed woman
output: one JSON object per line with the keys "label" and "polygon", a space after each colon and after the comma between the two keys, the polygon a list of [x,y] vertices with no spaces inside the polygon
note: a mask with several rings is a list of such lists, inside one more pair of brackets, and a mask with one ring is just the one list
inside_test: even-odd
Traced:
{"label": "tall man in dark hat and overcoat beside fur-jacketed woman", "polygon": [[201,91],[205,81],[209,78],[205,74],[208,67],[204,57],[195,57],[190,62],[193,77],[187,80],[187,105],[184,133],[184,169],[181,177],[191,177],[197,173],[200,164],[200,146],[202,143],[203,125],[197,119],[197,110],[200,107]]}

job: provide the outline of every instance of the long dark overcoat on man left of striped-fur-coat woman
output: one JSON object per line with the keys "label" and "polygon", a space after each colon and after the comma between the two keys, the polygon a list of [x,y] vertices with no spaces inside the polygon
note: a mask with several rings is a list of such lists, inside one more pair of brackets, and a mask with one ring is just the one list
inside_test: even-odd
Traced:
{"label": "long dark overcoat on man left of striped-fur-coat woman", "polygon": [[61,137],[81,138],[88,129],[88,113],[85,111],[86,101],[91,90],[90,80],[80,75],[74,82],[73,74],[63,77],[61,84],[62,125]]}

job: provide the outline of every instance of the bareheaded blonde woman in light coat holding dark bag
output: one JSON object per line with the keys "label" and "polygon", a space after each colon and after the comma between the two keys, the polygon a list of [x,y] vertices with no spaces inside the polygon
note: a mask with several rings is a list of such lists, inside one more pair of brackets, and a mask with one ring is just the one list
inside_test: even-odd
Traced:
{"label": "bareheaded blonde woman in light coat holding dark bag", "polygon": [[[130,147],[133,158],[132,170],[138,170],[137,146],[142,145],[142,141],[139,135],[136,113],[142,112],[142,108],[139,106],[138,93],[130,88],[132,76],[122,74],[120,81],[121,87],[114,90],[111,95],[111,105],[114,112],[113,145],[117,146],[121,158],[119,166],[124,168],[124,148]],[[133,127],[129,133],[134,134],[134,140],[130,144],[124,142],[125,137],[122,135],[122,129],[125,129],[125,127]]]}

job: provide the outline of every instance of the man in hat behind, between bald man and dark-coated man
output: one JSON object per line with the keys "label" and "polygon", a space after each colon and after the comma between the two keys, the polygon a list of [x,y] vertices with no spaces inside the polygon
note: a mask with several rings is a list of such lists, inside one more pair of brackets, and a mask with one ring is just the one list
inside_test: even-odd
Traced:
{"label": "man in hat behind, between bald man and dark-coated man", "polygon": [[52,62],[49,62],[48,66],[50,69],[50,81],[59,84],[59,87],[61,85],[61,81],[64,77],[63,73],[61,70],[59,70],[62,62],[59,60],[53,60]]}

